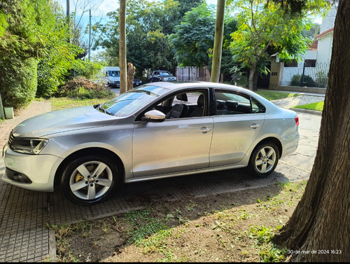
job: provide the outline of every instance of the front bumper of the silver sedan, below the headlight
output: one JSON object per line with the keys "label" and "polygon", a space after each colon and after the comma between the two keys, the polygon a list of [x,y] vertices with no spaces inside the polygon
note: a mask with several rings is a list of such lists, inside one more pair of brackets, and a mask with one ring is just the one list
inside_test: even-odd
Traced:
{"label": "front bumper of the silver sedan, below the headlight", "polygon": [[[5,147],[6,148],[6,147]],[[52,192],[55,172],[61,158],[54,155],[29,155],[6,148],[5,174],[2,180],[29,190]]]}

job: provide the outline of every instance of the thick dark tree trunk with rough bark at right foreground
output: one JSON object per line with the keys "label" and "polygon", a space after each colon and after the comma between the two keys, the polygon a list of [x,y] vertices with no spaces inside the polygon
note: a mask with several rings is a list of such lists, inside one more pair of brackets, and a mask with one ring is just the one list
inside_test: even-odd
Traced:
{"label": "thick dark tree trunk with rough bark at right foreground", "polygon": [[292,253],[292,262],[350,260],[349,14],[350,1],[339,0],[314,167],[293,215],[273,239]]}

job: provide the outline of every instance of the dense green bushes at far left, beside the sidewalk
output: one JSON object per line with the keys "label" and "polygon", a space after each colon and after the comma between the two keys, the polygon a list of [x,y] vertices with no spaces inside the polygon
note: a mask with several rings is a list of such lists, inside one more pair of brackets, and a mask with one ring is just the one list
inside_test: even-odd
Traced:
{"label": "dense green bushes at far left, beside the sidewalk", "polygon": [[[67,43],[62,11],[51,0],[4,1],[0,11],[0,92],[6,104],[26,106],[65,81],[78,47]],[[5,15],[6,14],[6,15]]]}

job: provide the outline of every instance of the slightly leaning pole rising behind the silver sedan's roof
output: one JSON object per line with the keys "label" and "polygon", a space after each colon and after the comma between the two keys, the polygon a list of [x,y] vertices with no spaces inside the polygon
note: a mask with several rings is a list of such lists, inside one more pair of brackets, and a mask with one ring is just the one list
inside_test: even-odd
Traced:
{"label": "slightly leaning pole rising behind the silver sedan's roof", "polygon": [[211,66],[211,78],[210,78],[210,81],[212,83],[218,83],[220,79],[221,54],[223,50],[224,16],[225,16],[225,0],[218,0],[218,7],[216,9],[213,64]]}

